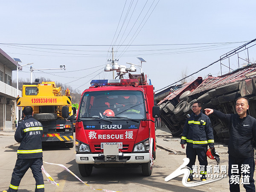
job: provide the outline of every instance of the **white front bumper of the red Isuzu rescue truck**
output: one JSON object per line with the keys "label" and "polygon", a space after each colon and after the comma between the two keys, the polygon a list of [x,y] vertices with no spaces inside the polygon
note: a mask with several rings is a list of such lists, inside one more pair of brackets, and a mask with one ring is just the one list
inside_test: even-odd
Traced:
{"label": "white front bumper of the red Isuzu rescue truck", "polygon": [[78,164],[101,163],[148,163],[149,153],[119,153],[118,155],[104,156],[103,154],[76,154]]}

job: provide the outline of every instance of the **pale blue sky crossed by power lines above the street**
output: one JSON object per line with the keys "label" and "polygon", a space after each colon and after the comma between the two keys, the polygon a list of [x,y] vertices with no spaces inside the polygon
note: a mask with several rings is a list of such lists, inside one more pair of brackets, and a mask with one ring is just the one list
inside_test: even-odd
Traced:
{"label": "pale blue sky crossed by power lines above the street", "polygon": [[[1,0],[0,48],[29,64],[19,78],[30,79],[32,66],[33,81],[45,77],[82,92],[92,79],[113,79],[104,72],[113,47],[119,65],[145,59],[142,70],[159,91],[255,39],[255,7],[255,0]],[[255,61],[255,48],[248,53]],[[60,65],[66,70],[40,70]],[[230,67],[238,68],[237,56]],[[186,81],[208,73],[221,75],[220,62]]]}

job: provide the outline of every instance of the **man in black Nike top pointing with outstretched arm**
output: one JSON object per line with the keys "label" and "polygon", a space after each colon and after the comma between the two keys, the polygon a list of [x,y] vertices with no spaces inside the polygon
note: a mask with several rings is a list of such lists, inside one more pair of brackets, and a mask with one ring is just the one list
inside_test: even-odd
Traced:
{"label": "man in black Nike top pointing with outstretched arm", "polygon": [[236,114],[224,114],[213,109],[204,109],[205,114],[213,114],[228,123],[230,139],[228,143],[228,176],[230,177],[230,192],[239,192],[241,174],[244,188],[247,192],[255,192],[253,179],[254,150],[253,139],[256,141],[256,119],[247,115],[249,102],[246,97],[236,100]]}

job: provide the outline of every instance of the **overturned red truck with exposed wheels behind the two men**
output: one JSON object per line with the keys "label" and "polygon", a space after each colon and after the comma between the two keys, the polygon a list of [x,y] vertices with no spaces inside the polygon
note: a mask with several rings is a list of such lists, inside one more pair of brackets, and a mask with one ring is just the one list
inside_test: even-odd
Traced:
{"label": "overturned red truck with exposed wheels behind the two men", "polygon": [[[248,114],[256,118],[256,64],[248,64],[223,76],[198,77],[195,81],[172,87],[166,98],[157,105],[160,118],[178,137],[182,134],[186,115],[192,113],[192,104],[200,101],[202,111],[213,108],[224,113],[236,113],[236,99],[245,96],[249,99]],[[228,143],[227,125],[214,116],[212,122],[215,142]]]}

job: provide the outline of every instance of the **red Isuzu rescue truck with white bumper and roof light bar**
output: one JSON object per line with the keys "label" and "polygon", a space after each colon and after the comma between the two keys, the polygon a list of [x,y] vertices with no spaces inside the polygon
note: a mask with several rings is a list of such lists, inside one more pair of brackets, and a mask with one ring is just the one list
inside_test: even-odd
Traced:
{"label": "red Isuzu rescue truck with white bumper and roof light bar", "polygon": [[[142,166],[152,173],[156,158],[153,85],[137,79],[93,80],[81,96],[76,120],[76,163],[81,176],[93,167]],[[108,164],[108,165],[107,165]]]}

